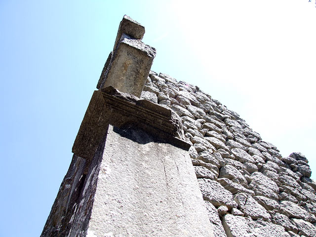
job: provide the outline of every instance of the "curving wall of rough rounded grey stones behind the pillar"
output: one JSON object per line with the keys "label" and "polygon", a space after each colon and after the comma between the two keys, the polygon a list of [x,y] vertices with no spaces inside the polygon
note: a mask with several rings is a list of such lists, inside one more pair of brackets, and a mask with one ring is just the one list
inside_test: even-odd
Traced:
{"label": "curving wall of rough rounded grey stones behind the pillar", "polygon": [[315,237],[316,183],[300,153],[277,148],[197,86],[150,72],[141,98],[171,108],[218,237]]}

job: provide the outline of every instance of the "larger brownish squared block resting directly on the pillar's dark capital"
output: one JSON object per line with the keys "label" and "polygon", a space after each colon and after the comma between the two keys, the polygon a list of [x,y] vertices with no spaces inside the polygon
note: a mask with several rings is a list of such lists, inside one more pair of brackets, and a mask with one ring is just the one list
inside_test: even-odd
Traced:
{"label": "larger brownish squared block resting directly on the pillar's dark capital", "polygon": [[155,48],[122,34],[100,88],[111,85],[140,97],[155,56]]}

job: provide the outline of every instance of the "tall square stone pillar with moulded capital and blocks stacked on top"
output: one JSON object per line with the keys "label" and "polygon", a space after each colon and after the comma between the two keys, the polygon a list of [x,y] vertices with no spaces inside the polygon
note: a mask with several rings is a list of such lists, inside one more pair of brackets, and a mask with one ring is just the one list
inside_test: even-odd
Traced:
{"label": "tall square stone pillar with moulded capital and blocks stacked on top", "polygon": [[120,24],[41,237],[213,236],[181,119],[135,96],[154,57],[135,24]]}

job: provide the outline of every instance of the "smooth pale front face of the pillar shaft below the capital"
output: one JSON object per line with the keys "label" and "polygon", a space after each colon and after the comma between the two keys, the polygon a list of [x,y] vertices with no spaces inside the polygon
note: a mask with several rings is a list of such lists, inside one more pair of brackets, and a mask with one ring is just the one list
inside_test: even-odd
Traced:
{"label": "smooth pale front face of the pillar shaft below the capital", "polygon": [[212,237],[211,229],[189,153],[142,130],[110,126],[88,233]]}

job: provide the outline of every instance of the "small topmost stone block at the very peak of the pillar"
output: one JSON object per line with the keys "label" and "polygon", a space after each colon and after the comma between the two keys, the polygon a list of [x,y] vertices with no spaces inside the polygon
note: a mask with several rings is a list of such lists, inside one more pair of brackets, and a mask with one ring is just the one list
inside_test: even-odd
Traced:
{"label": "small topmost stone block at the very peak of the pillar", "polygon": [[123,19],[119,23],[118,34],[115,40],[113,51],[118,46],[118,42],[123,34],[129,35],[136,40],[142,40],[145,34],[145,27],[133,20],[127,15],[123,16]]}

